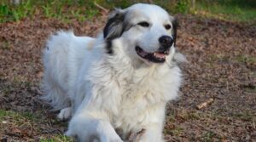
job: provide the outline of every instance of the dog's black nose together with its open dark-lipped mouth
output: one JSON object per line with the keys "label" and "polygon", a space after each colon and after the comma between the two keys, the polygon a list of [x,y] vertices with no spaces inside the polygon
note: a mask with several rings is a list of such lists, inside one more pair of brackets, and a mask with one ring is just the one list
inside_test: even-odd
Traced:
{"label": "dog's black nose together with its open dark-lipped mouth", "polygon": [[166,55],[170,53],[170,48],[173,44],[172,37],[162,36],[159,38],[160,48],[154,53],[148,53],[143,48],[136,46],[135,50],[137,54],[144,60],[149,60],[154,63],[164,63],[166,61]]}

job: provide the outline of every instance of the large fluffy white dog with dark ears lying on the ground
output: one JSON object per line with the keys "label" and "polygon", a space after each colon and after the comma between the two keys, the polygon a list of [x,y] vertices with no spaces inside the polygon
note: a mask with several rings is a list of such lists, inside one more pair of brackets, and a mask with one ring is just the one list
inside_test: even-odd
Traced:
{"label": "large fluffy white dog with dark ears lying on the ground", "polygon": [[58,31],[44,50],[44,99],[85,142],[163,142],[165,108],[182,83],[177,20],[159,6],[115,9],[96,37]]}

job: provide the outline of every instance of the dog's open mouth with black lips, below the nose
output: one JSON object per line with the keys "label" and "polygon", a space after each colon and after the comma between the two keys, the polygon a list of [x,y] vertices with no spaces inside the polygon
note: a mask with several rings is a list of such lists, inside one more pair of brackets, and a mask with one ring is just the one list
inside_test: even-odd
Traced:
{"label": "dog's open mouth with black lips, below the nose", "polygon": [[156,51],[154,53],[147,53],[139,46],[135,47],[137,54],[145,60],[149,60],[154,63],[164,63],[166,61],[166,55],[169,54],[170,50],[163,52]]}

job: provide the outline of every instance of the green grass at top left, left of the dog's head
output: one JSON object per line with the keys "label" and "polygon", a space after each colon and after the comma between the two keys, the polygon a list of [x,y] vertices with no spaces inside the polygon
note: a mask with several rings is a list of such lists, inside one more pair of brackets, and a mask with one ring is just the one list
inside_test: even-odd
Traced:
{"label": "green grass at top left, left of the dog's head", "polygon": [[33,16],[56,18],[63,21],[72,18],[84,21],[99,13],[92,3],[92,0],[84,1],[84,3],[82,0],[25,0],[23,3],[15,5],[5,0],[0,3],[0,22],[19,21]]}

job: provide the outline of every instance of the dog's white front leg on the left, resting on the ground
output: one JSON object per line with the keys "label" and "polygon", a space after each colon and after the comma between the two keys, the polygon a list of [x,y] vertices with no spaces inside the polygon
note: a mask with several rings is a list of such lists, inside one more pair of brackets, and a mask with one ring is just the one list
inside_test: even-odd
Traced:
{"label": "dog's white front leg on the left, resting on the ground", "polygon": [[73,116],[66,134],[82,142],[123,142],[110,122],[84,114]]}

